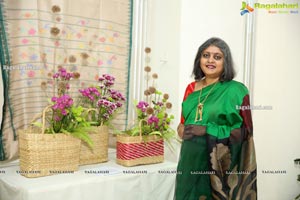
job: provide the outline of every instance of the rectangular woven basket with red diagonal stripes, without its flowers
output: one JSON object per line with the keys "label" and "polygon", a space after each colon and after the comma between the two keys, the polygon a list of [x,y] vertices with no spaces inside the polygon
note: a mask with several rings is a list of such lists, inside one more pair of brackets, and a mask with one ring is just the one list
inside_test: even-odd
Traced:
{"label": "rectangular woven basket with red diagonal stripes, without its flowers", "polygon": [[117,135],[117,159],[120,165],[130,167],[164,161],[164,140],[155,135]]}

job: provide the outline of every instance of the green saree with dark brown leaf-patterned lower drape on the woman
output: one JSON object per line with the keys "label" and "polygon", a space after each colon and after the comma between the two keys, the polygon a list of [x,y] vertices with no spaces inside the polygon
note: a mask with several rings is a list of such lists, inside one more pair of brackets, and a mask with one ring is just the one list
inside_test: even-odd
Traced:
{"label": "green saree with dark brown leaf-patterned lower drape on the woman", "polygon": [[[236,81],[212,87],[191,92],[182,103],[182,122],[194,135],[181,146],[174,199],[256,200],[252,117],[241,109],[250,107],[248,90]],[[203,120],[195,120],[205,98]]]}

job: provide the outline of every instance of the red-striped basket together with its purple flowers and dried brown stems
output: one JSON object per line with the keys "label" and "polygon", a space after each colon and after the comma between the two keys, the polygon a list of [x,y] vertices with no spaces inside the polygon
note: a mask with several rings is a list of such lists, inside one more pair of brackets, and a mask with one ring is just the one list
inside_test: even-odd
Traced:
{"label": "red-striped basket together with its purple flowers and dried brown stems", "polygon": [[[151,50],[146,48],[145,51],[148,54]],[[164,140],[169,142],[175,136],[175,131],[170,127],[174,116],[168,113],[172,108],[169,95],[156,89],[158,75],[153,73],[150,76],[149,66],[144,71],[145,99],[134,103],[137,119],[132,128],[117,135],[117,163],[124,166],[163,162]]]}

